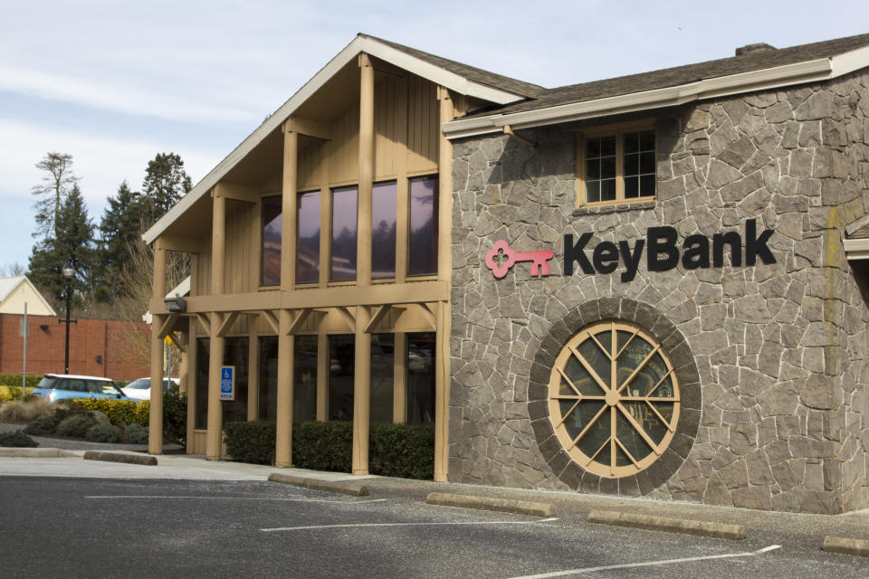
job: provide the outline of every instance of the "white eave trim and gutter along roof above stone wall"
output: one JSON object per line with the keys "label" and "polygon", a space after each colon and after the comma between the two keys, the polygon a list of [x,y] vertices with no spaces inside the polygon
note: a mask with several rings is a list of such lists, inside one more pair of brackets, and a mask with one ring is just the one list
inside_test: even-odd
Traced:
{"label": "white eave trim and gutter along roof above stone wall", "polygon": [[769,90],[812,81],[827,81],[869,66],[869,47],[832,58],[795,62],[761,71],[742,72],[703,79],[664,89],[632,92],[606,99],[585,100],[516,113],[495,114],[474,119],[459,119],[444,123],[447,138],[463,138],[503,131],[511,128],[532,128],[581,119],[660,109],[692,100],[730,96],[755,90]]}

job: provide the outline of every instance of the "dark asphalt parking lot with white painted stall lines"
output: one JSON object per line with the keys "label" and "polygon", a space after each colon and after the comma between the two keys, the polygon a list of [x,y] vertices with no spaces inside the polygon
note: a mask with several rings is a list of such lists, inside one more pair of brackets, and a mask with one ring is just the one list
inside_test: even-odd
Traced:
{"label": "dark asphalt parking lot with white painted stall lines", "polygon": [[[23,464],[0,459],[0,470],[15,460]],[[60,461],[93,468],[74,459],[47,468],[62,470]],[[110,468],[121,466],[136,468]],[[0,476],[0,493],[4,577],[864,578],[869,568],[788,529],[728,541],[593,525],[581,513],[350,498],[255,477]]]}

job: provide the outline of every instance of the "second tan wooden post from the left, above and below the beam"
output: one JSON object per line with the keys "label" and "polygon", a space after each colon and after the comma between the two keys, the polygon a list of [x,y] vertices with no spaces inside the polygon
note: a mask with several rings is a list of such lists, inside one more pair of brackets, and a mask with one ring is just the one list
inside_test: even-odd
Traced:
{"label": "second tan wooden post from the left, above and below the beam", "polygon": [[[211,221],[211,293],[224,293],[226,268],[226,198],[220,185],[212,191],[214,206]],[[220,460],[223,446],[224,409],[220,402],[220,366],[224,362],[224,337],[219,335],[223,316],[211,313],[210,351],[208,356],[208,432],[205,435],[205,458]]]}

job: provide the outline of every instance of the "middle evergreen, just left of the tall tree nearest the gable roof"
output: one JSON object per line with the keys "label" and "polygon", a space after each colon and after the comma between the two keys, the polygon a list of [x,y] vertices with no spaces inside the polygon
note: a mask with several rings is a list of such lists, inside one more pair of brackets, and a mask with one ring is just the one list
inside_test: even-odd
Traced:
{"label": "middle evergreen, just left of the tall tree nearest the gable roof", "polygon": [[124,181],[118,193],[109,197],[100,221],[99,255],[94,271],[94,299],[113,302],[117,283],[129,263],[130,250],[138,242],[143,228],[142,203],[138,193]]}

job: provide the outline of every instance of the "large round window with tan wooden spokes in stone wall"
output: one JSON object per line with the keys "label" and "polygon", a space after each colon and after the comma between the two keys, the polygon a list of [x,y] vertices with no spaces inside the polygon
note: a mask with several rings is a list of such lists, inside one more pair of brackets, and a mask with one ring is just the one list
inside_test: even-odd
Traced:
{"label": "large round window with tan wooden spokes in stone wall", "polygon": [[679,384],[660,344],[625,321],[570,338],[549,378],[549,418],[568,454],[601,477],[660,457],[679,421]]}

